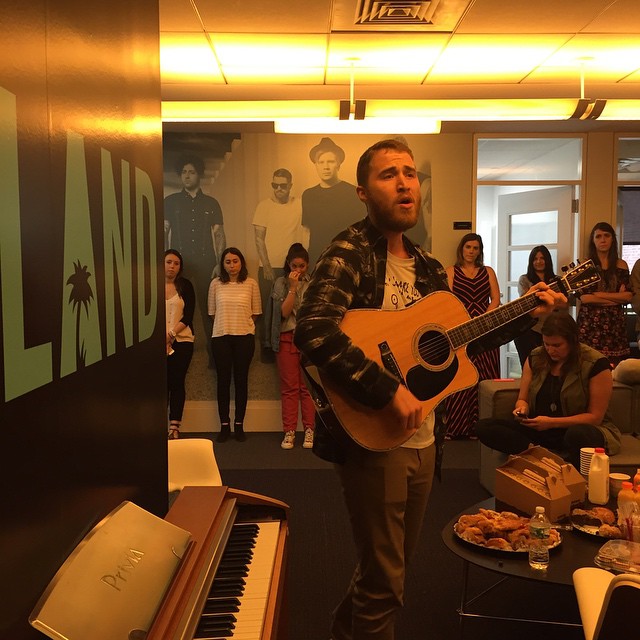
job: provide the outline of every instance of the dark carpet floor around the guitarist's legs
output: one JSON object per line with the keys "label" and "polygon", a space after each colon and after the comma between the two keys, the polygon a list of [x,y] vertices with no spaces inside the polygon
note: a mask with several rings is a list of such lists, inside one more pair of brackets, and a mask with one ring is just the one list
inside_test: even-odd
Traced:
{"label": "dark carpet floor around the guitarist's legs", "polygon": [[[188,435],[188,434],[187,434]],[[196,434],[192,434],[192,437]],[[203,437],[204,434],[197,434]],[[212,436],[210,436],[212,437]],[[331,611],[355,565],[348,516],[332,465],[303,449],[283,450],[281,433],[249,433],[246,442],[214,444],[223,482],[278,498],[290,506],[287,625],[289,640],[328,640]],[[468,619],[460,623],[462,560],[442,542],[445,524],[488,497],[478,482],[475,441],[445,443],[442,481],[434,482],[423,534],[407,576],[405,607],[396,640],[581,640],[580,629]],[[526,559],[524,559],[526,562]],[[471,593],[492,587],[499,576],[470,570]],[[532,603],[547,619],[579,620],[573,589],[510,579],[479,600],[478,611],[531,615]]]}

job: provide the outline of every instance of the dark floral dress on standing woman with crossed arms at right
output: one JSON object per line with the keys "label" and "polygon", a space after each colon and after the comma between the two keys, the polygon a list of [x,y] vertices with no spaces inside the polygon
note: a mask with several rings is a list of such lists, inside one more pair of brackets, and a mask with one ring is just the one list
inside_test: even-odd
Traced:
{"label": "dark floral dress on standing woman with crossed arms at right", "polygon": [[[607,282],[600,267],[597,267],[601,280],[585,293],[594,291],[620,291],[621,285],[626,291],[631,290],[629,270],[616,268],[615,277]],[[629,357],[629,338],[627,336],[627,320],[621,304],[602,306],[598,304],[580,304],[578,312],[578,336],[580,342],[590,346],[606,356],[610,362],[618,363]]]}

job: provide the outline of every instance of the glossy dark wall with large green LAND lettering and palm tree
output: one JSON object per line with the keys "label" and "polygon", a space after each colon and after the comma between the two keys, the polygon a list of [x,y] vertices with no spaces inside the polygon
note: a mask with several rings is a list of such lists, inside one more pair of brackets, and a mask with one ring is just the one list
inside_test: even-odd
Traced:
{"label": "glossy dark wall with large green LAND lettering and palm tree", "polygon": [[3,639],[112,508],[166,511],[158,33],[156,0],[0,5]]}

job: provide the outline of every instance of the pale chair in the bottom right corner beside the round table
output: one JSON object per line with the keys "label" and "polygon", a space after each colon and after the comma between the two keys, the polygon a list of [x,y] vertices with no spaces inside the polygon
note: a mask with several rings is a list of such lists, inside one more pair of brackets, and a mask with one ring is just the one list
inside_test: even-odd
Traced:
{"label": "pale chair in the bottom right corner beside the round table", "polygon": [[615,575],[596,567],[573,573],[585,640],[637,638],[640,575]]}

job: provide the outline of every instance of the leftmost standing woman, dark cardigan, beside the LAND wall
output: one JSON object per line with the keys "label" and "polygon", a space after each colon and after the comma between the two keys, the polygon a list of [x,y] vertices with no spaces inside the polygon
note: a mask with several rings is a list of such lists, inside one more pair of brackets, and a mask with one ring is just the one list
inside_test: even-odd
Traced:
{"label": "leftmost standing woman, dark cardigan, beside the LAND wall", "polygon": [[193,357],[196,295],[191,282],[181,275],[183,267],[178,251],[168,249],[164,252],[169,440],[180,437],[185,402],[184,381]]}

